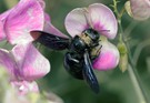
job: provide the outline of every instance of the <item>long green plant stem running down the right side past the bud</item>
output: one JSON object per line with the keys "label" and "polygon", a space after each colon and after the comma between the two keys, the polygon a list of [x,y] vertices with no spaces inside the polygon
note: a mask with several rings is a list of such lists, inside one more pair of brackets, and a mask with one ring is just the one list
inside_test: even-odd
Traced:
{"label": "long green plant stem running down the right side past the bud", "polygon": [[134,63],[132,61],[129,44],[128,44],[128,42],[124,41],[124,38],[123,38],[124,33],[123,33],[123,29],[122,29],[122,25],[121,25],[121,18],[123,16],[124,10],[122,10],[122,12],[120,14],[120,12],[118,11],[118,8],[117,8],[118,2],[119,1],[113,0],[113,6],[112,7],[113,7],[113,10],[114,10],[114,13],[117,14],[119,30],[120,30],[119,31],[119,42],[123,42],[126,44],[127,50],[128,50],[128,56],[129,56],[128,72],[129,72],[130,79],[131,79],[131,81],[133,83],[133,86],[136,89],[136,92],[138,93],[140,103],[148,103],[147,96],[146,96],[144,91],[143,91],[142,85],[141,85],[142,83],[141,83],[140,78],[138,75],[136,65],[134,65]]}

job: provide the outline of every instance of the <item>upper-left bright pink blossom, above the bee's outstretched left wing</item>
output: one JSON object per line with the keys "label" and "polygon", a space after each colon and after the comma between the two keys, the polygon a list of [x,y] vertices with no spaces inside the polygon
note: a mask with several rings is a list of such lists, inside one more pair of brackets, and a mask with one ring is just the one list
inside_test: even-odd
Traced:
{"label": "upper-left bright pink blossom, above the bee's outstretched left wing", "polygon": [[30,35],[30,31],[33,30],[61,34],[50,23],[50,17],[44,12],[44,7],[43,0],[21,0],[14,8],[2,13],[0,17],[4,23],[3,27],[0,23],[0,31],[4,32],[0,33],[1,40],[7,37],[11,44],[32,42],[34,39]]}

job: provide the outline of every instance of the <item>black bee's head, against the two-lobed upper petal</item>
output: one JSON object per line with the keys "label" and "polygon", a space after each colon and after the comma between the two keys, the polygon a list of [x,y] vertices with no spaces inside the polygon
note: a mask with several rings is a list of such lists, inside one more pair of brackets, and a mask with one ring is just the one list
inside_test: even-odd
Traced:
{"label": "black bee's head, against the two-lobed upper petal", "polygon": [[99,41],[100,34],[98,33],[98,31],[93,29],[87,29],[83,31],[83,33],[87,34],[93,42]]}

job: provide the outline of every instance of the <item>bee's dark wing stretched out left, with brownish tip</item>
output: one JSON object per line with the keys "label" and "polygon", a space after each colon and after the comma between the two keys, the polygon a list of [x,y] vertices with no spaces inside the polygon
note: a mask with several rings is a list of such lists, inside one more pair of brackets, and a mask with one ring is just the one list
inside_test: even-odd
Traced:
{"label": "bee's dark wing stretched out left, with brownish tip", "polygon": [[39,37],[36,38],[36,41],[53,50],[64,50],[68,49],[70,44],[70,39],[58,37],[43,31],[31,31],[30,33],[33,38],[37,37],[34,34],[39,34]]}

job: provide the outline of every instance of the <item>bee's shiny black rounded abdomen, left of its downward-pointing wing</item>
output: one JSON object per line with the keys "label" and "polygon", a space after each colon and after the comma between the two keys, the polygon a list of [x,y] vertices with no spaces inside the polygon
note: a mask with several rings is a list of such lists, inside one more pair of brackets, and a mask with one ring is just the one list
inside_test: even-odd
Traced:
{"label": "bee's shiny black rounded abdomen, left of its downward-pointing wing", "polygon": [[82,60],[80,54],[67,52],[64,55],[64,68],[76,79],[83,80]]}

